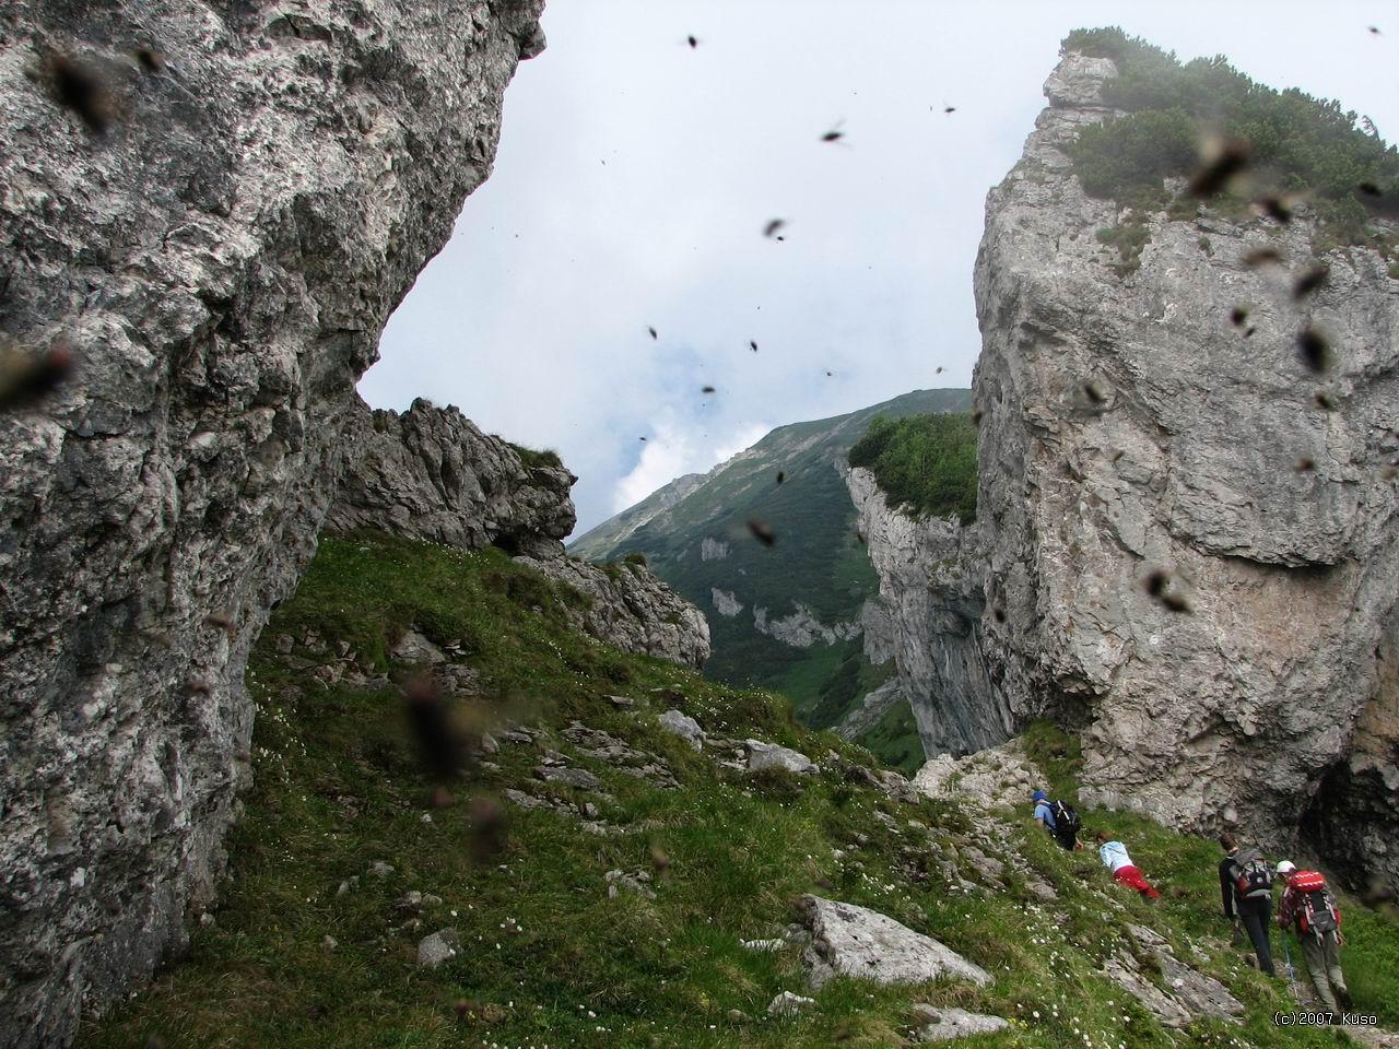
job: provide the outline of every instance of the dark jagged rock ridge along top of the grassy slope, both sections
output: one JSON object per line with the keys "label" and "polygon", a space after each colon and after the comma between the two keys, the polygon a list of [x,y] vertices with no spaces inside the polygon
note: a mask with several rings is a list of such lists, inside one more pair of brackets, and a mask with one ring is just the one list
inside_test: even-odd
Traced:
{"label": "dark jagged rock ridge along top of the grassy slope, both sections", "polygon": [[477,429],[457,408],[416,400],[402,415],[357,403],[343,434],[344,469],[325,529],[374,529],[453,547],[498,545],[585,597],[578,629],[646,656],[701,667],[709,624],[645,565],[590,565],[560,541],[576,515],[578,478],[548,452]]}

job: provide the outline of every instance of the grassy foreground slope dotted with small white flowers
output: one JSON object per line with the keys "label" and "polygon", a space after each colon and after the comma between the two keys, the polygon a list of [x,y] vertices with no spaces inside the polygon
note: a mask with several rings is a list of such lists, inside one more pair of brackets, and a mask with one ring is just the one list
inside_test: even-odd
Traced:
{"label": "grassy foreground slope dotted with small white flowers", "polygon": [[[925,880],[930,842],[964,839],[975,815],[954,801],[891,801],[846,782],[835,768],[803,783],[719,775],[660,733],[653,713],[672,702],[711,733],[760,736],[816,757],[835,747],[846,761],[870,755],[830,734],[811,734],[767,692],[734,691],[672,664],[617,653],[562,625],[562,599],[499,551],[462,552],[382,536],[327,540],[295,597],[278,608],[249,669],[259,719],[256,786],[229,845],[232,881],[217,923],[196,927],[189,957],[134,1001],[90,1022],[80,1045],[102,1046],[893,1046],[912,1001],[958,1004],[1016,1020],[1010,1032],[968,1039],[977,1046],[1122,1049],[1167,1046],[1328,1046],[1332,1032],[1279,1029],[1286,999],[1277,985],[1226,957],[1209,937],[1214,919],[1214,850],[1128,815],[1104,815],[1149,876],[1189,892],[1129,912],[1186,954],[1184,937],[1212,952],[1205,965],[1249,1007],[1242,1028],[1200,1025],[1172,1042],[1115,985],[1098,959],[1121,930],[1101,920],[1101,892],[1115,892],[1084,855],[1053,846],[1018,814],[1014,834],[1060,892],[1042,906],[1018,885],[964,894]],[[541,613],[532,613],[540,606]],[[498,771],[483,769],[457,800],[422,822],[428,782],[388,691],[322,690],[311,670],[276,656],[273,639],[350,641],[383,664],[393,636],[416,624],[439,642],[460,638],[484,692],[513,716],[557,730],[571,718],[623,736],[670,762],[681,787],[667,792],[575,757],[616,796],[604,818],[634,834],[599,838],[550,811],[508,808],[504,848],[473,860],[467,796],[530,778],[539,752],[504,745]],[[652,698],[651,688],[673,690]],[[604,694],[638,697],[620,712]],[[532,709],[532,713],[522,713]],[[557,734],[548,740],[567,754]],[[1046,729],[1031,748],[1060,793],[1072,789],[1074,755]],[[1055,754],[1058,751],[1058,754]],[[353,815],[347,806],[357,810]],[[900,831],[876,817],[891,817]],[[928,824],[915,831],[908,820]],[[832,849],[844,849],[837,857]],[[603,874],[652,869],[669,857],[655,901],[609,899]],[[383,860],[388,878],[369,876]],[[964,877],[978,871],[963,863]],[[360,876],[343,895],[337,885]],[[406,890],[435,892],[424,927],[399,933],[395,901]],[[935,983],[883,989],[839,979],[797,1020],[764,1015],[781,990],[803,992],[797,948],[751,954],[739,940],[768,936],[789,920],[802,892],[873,906],[939,937],[995,975],[985,989]],[[455,926],[462,954],[435,971],[414,965],[428,932]],[[1392,923],[1347,911],[1357,1004],[1399,1020]],[[326,936],[337,945],[327,950]],[[464,1003],[457,1013],[456,1003]],[[753,1020],[733,1021],[730,1010]],[[1038,1017],[1035,1017],[1038,1013]],[[155,1042],[150,1039],[157,1039]]]}

